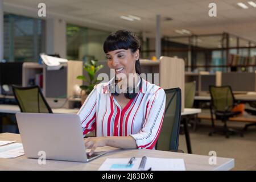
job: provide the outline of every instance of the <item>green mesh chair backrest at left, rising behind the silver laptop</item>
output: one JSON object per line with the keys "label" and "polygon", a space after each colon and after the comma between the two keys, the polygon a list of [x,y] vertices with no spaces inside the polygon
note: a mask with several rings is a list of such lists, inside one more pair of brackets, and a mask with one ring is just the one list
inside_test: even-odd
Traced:
{"label": "green mesh chair backrest at left, rising behind the silver laptop", "polygon": [[39,86],[13,87],[13,93],[22,113],[52,113]]}

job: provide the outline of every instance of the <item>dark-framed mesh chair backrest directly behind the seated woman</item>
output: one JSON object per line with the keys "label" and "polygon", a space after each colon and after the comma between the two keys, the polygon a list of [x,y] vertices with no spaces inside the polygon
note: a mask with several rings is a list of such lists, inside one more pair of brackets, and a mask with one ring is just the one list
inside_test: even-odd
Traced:
{"label": "dark-framed mesh chair backrest directly behind the seated woman", "polygon": [[177,151],[181,115],[181,89],[172,88],[165,89],[164,91],[166,92],[166,110],[164,112],[162,129],[158,137],[158,142],[156,143],[156,149]]}

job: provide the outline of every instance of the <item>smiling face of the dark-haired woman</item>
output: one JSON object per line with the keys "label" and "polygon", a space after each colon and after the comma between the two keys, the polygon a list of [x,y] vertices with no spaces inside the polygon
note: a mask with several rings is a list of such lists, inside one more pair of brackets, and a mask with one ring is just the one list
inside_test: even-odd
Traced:
{"label": "smiling face of the dark-haired woman", "polygon": [[126,77],[129,73],[136,73],[135,61],[139,59],[139,50],[132,53],[130,49],[117,49],[106,53],[108,67],[115,70],[115,75],[123,73]]}

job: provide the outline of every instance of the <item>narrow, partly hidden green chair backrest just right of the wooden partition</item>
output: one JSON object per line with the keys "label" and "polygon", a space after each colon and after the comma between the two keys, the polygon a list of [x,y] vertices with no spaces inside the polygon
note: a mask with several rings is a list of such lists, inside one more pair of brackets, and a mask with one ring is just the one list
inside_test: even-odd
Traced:
{"label": "narrow, partly hidden green chair backrest just right of the wooden partition", "polygon": [[185,108],[192,108],[196,94],[196,81],[185,83]]}

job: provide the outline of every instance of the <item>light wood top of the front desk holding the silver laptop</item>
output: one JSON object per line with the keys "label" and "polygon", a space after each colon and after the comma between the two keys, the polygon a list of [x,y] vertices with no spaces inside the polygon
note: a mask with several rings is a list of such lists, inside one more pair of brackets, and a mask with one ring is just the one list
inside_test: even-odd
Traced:
{"label": "light wood top of the front desk holding the silver laptop", "polygon": [[[3,133],[0,140],[16,140],[21,142],[19,134]],[[106,150],[109,147],[105,147]],[[208,163],[210,156],[183,154],[177,152],[167,152],[158,150],[115,150],[101,156],[89,163],[64,162],[57,160],[47,160],[46,165],[39,165],[37,159],[27,159],[26,156],[19,156],[14,159],[0,158],[1,170],[98,170],[107,158],[131,158],[135,156],[141,158],[148,156],[152,158],[177,158],[184,159],[187,170],[230,170],[234,167],[234,159],[217,157],[217,164]]]}

